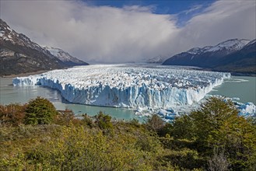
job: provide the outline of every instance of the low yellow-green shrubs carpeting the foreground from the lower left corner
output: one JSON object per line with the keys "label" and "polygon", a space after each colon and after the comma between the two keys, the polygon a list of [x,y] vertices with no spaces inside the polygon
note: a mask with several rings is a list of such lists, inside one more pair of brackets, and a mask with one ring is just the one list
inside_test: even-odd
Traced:
{"label": "low yellow-green shrubs carpeting the foreground from the lower left corner", "polygon": [[[72,124],[68,127],[25,125],[0,130],[6,132],[0,148],[2,170],[153,170],[157,154],[163,152],[156,137],[141,131],[129,134],[116,131],[108,136],[100,128]],[[138,146],[139,137],[152,144],[150,152]]]}

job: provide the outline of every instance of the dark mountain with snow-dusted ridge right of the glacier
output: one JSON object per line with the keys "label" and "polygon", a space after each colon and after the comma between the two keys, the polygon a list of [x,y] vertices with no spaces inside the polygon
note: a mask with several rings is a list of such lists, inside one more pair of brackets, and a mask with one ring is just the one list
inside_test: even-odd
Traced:
{"label": "dark mountain with snow-dusted ridge right of the glacier", "polygon": [[256,74],[256,40],[232,39],[216,46],[195,47],[175,54],[163,65],[185,65],[219,72]]}

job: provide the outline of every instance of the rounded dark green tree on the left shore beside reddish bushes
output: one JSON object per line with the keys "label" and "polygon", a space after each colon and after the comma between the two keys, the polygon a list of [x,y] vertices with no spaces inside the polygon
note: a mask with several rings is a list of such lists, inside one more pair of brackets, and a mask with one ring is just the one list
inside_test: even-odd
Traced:
{"label": "rounded dark green tree on the left shore beside reddish bushes", "polygon": [[41,97],[31,99],[26,107],[25,124],[50,124],[58,114],[54,105]]}

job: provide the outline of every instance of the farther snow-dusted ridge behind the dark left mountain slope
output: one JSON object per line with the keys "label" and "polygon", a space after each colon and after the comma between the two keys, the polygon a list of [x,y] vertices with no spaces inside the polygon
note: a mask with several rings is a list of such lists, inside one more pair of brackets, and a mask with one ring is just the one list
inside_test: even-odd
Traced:
{"label": "farther snow-dusted ridge behind the dark left mountain slope", "polygon": [[54,57],[57,57],[59,60],[63,61],[67,65],[88,65],[86,62],[79,60],[78,58],[72,57],[68,52],[63,51],[56,47],[44,47],[47,51],[50,51]]}

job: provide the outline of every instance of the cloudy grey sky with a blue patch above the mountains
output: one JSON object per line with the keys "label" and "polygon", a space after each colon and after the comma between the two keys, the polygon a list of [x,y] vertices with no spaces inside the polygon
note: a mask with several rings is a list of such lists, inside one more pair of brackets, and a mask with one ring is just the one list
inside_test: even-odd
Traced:
{"label": "cloudy grey sky with a blue patch above the mountains", "polygon": [[37,44],[88,62],[143,61],[256,37],[255,0],[116,2],[0,1],[1,18]]}

